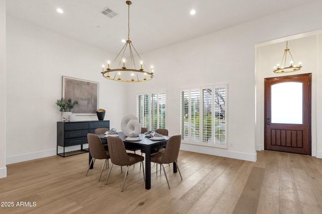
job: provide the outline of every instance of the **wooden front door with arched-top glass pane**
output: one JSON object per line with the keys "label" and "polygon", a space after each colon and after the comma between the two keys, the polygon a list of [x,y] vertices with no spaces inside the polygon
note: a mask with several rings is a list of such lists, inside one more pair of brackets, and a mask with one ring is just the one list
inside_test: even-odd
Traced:
{"label": "wooden front door with arched-top glass pane", "polygon": [[267,150],[311,155],[311,74],[265,78]]}

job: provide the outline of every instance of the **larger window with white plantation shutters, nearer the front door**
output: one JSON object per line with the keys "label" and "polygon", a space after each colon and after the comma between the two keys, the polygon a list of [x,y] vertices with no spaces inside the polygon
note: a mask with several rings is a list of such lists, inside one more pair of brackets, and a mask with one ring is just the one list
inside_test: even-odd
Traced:
{"label": "larger window with white plantation shutters, nearer the front door", "polygon": [[181,90],[183,142],[227,148],[227,84]]}

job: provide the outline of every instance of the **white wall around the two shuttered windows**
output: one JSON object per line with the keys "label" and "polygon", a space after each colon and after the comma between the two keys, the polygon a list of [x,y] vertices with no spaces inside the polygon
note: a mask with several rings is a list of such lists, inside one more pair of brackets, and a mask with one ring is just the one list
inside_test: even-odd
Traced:
{"label": "white wall around the two shuttered windows", "polygon": [[[180,88],[228,83],[228,144],[233,146],[181,148],[255,161],[255,130],[261,130],[255,122],[255,44],[321,29],[321,7],[317,1],[143,55],[155,78],[129,88],[128,111],[135,113],[136,93],[167,89],[166,127],[170,135],[180,134]],[[290,14],[296,16],[289,19]]]}

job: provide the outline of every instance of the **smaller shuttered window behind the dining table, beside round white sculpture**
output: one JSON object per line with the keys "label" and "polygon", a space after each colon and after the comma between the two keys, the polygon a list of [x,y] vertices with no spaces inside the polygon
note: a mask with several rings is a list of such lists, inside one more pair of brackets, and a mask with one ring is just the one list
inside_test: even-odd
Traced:
{"label": "smaller shuttered window behind the dining table, beside round white sculpture", "polygon": [[137,118],[141,127],[154,131],[166,128],[166,93],[142,93],[136,98]]}

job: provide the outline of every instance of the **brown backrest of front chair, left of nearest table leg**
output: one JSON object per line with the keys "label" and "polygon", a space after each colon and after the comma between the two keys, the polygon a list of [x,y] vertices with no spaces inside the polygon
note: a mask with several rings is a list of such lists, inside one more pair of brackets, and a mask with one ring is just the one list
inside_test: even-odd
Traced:
{"label": "brown backrest of front chair, left of nearest table leg", "polygon": [[109,147],[109,153],[112,163],[120,166],[129,165],[130,160],[121,138],[108,136],[107,145]]}

